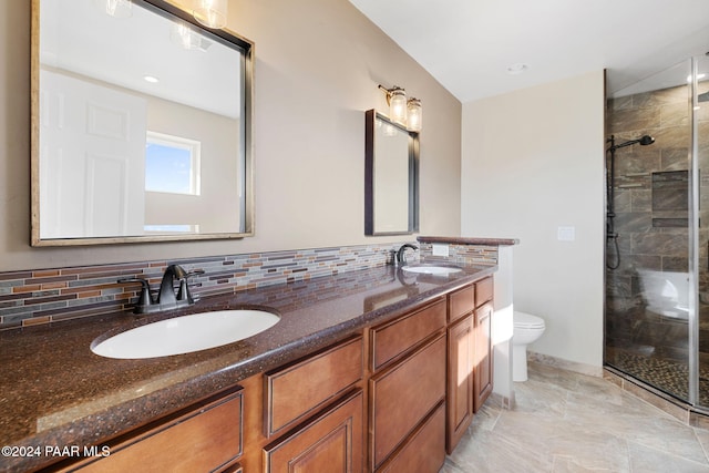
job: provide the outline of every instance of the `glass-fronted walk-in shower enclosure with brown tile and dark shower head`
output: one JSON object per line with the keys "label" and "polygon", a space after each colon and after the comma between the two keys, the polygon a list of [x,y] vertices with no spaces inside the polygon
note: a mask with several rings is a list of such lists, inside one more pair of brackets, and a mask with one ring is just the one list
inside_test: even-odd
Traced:
{"label": "glass-fronted walk-in shower enclosure with brown tile and dark shower head", "polygon": [[604,361],[708,411],[709,58],[614,93],[606,132]]}

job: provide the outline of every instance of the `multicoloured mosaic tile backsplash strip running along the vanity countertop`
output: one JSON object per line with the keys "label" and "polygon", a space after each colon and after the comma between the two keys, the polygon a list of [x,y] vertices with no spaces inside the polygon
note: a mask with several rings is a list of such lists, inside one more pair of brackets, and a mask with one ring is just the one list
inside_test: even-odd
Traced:
{"label": "multicoloured mosaic tile backsplash strip running along the vanity countertop", "polygon": [[[0,329],[130,310],[137,301],[140,285],[117,280],[140,277],[156,289],[171,264],[187,270],[204,269],[204,275],[189,279],[193,294],[204,297],[383,266],[398,246],[361,245],[0,273]],[[409,257],[430,259],[431,245],[420,246],[420,253]],[[496,264],[495,246],[450,245],[450,249],[449,260]]]}

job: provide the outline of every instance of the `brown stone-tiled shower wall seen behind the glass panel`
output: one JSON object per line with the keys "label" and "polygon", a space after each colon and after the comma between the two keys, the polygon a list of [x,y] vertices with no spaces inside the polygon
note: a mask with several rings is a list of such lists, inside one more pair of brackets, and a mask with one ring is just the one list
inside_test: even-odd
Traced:
{"label": "brown stone-tiled shower wall seen behind the glass panel", "polygon": [[[651,145],[616,152],[613,184],[620,266],[606,270],[606,345],[677,360],[687,359],[687,325],[644,309],[638,268],[689,269],[688,100],[686,86],[610,100],[606,121],[616,144],[644,134],[655,137]],[[615,263],[613,240],[606,251],[607,261]],[[606,353],[613,358],[615,352]]]}

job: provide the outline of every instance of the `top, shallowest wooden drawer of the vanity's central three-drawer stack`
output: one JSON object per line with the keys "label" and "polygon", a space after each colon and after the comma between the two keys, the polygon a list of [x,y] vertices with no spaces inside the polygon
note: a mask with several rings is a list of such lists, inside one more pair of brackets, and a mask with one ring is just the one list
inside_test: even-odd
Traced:
{"label": "top, shallowest wooden drawer of the vanity's central three-drawer stack", "polygon": [[444,327],[445,300],[441,299],[432,306],[372,329],[372,371]]}

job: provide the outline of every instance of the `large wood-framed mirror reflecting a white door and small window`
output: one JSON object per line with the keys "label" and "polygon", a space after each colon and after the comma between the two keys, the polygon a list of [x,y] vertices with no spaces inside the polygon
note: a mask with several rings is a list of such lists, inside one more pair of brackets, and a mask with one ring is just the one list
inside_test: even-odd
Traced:
{"label": "large wood-framed mirror reflecting a white door and small window", "polygon": [[253,42],[163,0],[32,0],[31,66],[33,246],[253,235]]}

